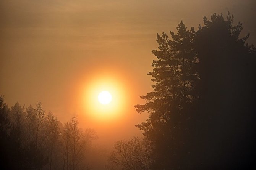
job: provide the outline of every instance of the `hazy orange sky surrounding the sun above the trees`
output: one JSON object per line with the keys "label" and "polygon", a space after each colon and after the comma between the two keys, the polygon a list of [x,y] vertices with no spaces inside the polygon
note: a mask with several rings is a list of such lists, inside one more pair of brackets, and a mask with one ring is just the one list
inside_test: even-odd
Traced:
{"label": "hazy orange sky surrounding the sun above the trees", "polygon": [[[181,20],[197,29],[203,16],[230,11],[256,44],[255,9],[255,0],[1,0],[0,94],[9,107],[41,101],[62,123],[78,115],[111,145],[141,135],[134,125],[147,114],[133,106],[152,90],[157,33],[170,35]],[[88,101],[104,85],[116,106],[103,119]]]}

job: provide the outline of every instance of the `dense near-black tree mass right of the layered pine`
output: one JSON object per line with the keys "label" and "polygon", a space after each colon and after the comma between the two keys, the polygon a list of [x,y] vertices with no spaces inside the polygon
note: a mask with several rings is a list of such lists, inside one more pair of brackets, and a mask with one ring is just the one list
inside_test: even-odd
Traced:
{"label": "dense near-black tree mass right of the layered pine", "polygon": [[245,44],[249,34],[240,38],[242,29],[229,13],[226,20],[215,13],[196,33],[201,80],[193,162],[203,169],[255,164],[256,50]]}

